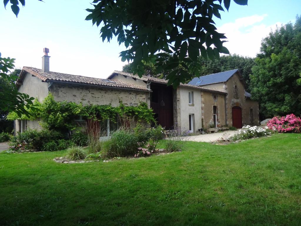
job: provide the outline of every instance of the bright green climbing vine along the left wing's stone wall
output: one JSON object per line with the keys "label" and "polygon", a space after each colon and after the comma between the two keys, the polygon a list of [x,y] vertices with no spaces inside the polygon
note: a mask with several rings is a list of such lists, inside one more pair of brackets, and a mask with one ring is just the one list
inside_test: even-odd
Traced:
{"label": "bright green climbing vine along the left wing's stone wall", "polygon": [[74,130],[78,124],[75,119],[81,115],[83,118],[93,119],[97,121],[111,120],[116,122],[117,117],[131,117],[139,122],[154,122],[154,113],[152,109],[147,107],[145,102],[141,102],[138,106],[126,106],[122,102],[118,107],[112,105],[86,105],[74,102],[57,102],[51,93],[44,99],[42,103],[35,100],[36,108],[39,111],[32,112],[29,118],[26,115],[19,117],[14,112],[8,115],[9,120],[41,119],[42,126],[49,129],[66,131]]}

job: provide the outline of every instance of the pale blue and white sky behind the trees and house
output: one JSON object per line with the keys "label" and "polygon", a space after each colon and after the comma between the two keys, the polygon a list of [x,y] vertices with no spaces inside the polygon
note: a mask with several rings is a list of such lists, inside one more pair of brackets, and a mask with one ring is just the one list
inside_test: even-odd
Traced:
{"label": "pale blue and white sky behind the trees and house", "polygon": [[[26,0],[18,18],[10,6],[0,2],[0,52],[2,57],[16,58],[15,66],[42,68],[43,48],[48,48],[50,71],[106,78],[122,70],[119,53],[125,46],[113,38],[102,42],[100,28],[86,21],[92,0]],[[10,3],[8,3],[10,4]],[[214,18],[231,54],[255,57],[262,38],[276,25],[294,23],[301,14],[300,0],[249,0],[248,6],[231,1],[229,12]]]}

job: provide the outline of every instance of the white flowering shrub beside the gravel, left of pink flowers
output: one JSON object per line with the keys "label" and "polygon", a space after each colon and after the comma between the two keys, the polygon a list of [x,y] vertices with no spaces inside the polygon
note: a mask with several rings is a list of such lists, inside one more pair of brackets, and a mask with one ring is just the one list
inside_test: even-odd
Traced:
{"label": "white flowering shrub beside the gravel, left of pink flowers", "polygon": [[246,140],[250,139],[252,137],[266,137],[271,135],[271,131],[268,129],[268,127],[257,127],[257,126],[244,126],[242,130],[239,130],[237,134],[234,134],[232,137],[230,137],[230,140],[236,141],[236,140]]}

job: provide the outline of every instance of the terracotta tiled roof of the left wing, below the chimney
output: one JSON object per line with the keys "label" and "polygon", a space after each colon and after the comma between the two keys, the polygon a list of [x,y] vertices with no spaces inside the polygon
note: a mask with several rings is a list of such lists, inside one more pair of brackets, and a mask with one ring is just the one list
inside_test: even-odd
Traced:
{"label": "terracotta tiled roof of the left wing, below the chimney", "polygon": [[[109,79],[101,79],[101,78],[93,78],[93,77],[85,77],[81,75],[73,75],[73,74],[63,74],[58,72],[44,72],[41,69],[35,67],[23,67],[18,81],[22,81],[25,74],[28,72],[44,82],[47,81],[58,81],[58,82],[69,82],[69,83],[79,83],[85,85],[95,85],[95,86],[106,86],[112,88],[123,88],[123,89],[137,89],[137,90],[144,90],[144,91],[151,91],[145,87],[136,86],[130,83],[118,81],[118,80],[109,80]],[[18,84],[17,81],[17,84]],[[17,85],[18,87],[19,85]]]}

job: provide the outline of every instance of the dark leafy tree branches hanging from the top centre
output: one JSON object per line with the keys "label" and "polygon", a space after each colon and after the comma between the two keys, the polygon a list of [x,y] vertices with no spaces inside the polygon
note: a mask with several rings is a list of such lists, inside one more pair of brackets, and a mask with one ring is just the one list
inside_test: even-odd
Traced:
{"label": "dark leafy tree branches hanging from the top centre", "polygon": [[[234,2],[247,5],[247,0]],[[139,76],[144,74],[143,61],[151,62],[158,74],[169,70],[168,84],[177,86],[199,75],[200,55],[213,60],[229,54],[213,15],[221,18],[219,11],[223,6],[228,10],[230,0],[95,0],[93,6],[86,20],[101,26],[103,41],[114,35],[124,43],[121,60],[132,61],[132,72]]]}

